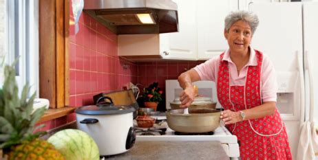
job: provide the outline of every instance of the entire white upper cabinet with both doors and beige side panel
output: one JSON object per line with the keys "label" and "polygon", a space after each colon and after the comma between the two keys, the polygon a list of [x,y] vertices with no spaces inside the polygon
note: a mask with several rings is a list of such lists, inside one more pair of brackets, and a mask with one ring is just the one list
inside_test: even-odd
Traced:
{"label": "entire white upper cabinet with both doors and beige side panel", "polygon": [[[224,18],[239,9],[239,1],[175,2],[178,4],[179,32],[119,35],[119,56],[132,60],[208,60],[228,48],[224,38]],[[244,3],[248,5],[249,2],[245,0]]]}

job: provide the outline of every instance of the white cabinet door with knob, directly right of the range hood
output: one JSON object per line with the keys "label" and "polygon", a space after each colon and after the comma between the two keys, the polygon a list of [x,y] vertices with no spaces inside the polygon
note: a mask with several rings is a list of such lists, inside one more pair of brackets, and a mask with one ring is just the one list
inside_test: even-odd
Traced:
{"label": "white cabinet door with knob, directly right of the range hood", "polygon": [[197,60],[195,0],[176,0],[179,32],[160,34],[160,54],[165,59]]}

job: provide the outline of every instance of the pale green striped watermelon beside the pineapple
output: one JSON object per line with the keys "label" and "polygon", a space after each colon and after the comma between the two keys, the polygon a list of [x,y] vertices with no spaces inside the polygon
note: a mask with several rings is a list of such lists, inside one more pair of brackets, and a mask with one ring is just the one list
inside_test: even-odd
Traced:
{"label": "pale green striped watermelon beside the pineapple", "polygon": [[99,160],[99,150],[94,139],[81,130],[61,130],[47,141],[67,160]]}

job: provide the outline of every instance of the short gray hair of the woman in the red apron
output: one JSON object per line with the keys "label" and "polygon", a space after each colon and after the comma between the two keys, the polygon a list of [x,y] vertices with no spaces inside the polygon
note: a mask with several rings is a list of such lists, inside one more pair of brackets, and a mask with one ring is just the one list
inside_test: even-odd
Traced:
{"label": "short gray hair of the woman in the red apron", "polygon": [[239,10],[239,11],[235,11],[235,12],[231,12],[230,14],[228,14],[225,19],[224,19],[224,27],[226,32],[229,32],[230,27],[237,21],[245,21],[246,23],[248,23],[248,25],[250,25],[251,30],[252,30],[252,35],[254,34],[257,25],[259,23],[258,21],[258,17],[256,14],[254,14],[253,12],[247,12],[244,10]]}

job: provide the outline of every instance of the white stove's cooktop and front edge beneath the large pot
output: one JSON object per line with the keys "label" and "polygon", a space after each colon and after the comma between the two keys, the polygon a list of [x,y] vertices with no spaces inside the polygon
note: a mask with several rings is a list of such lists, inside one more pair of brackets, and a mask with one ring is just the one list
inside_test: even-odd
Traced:
{"label": "white stove's cooktop and front edge beneath the large pot", "polygon": [[151,128],[139,128],[134,120],[136,141],[220,141],[225,152],[231,159],[240,157],[237,137],[232,135],[225,126],[219,126],[214,132],[209,133],[178,133],[169,128],[165,116],[151,116],[159,119]]}

